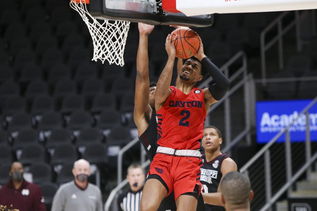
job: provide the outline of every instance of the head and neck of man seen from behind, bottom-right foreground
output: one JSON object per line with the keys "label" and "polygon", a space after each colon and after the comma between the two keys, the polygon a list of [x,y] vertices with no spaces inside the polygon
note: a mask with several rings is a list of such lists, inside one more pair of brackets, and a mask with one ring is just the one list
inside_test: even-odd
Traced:
{"label": "head and neck of man seen from behind, bottom-right foreground", "polygon": [[226,211],[250,211],[253,199],[250,180],[240,172],[229,172],[220,182],[221,200]]}

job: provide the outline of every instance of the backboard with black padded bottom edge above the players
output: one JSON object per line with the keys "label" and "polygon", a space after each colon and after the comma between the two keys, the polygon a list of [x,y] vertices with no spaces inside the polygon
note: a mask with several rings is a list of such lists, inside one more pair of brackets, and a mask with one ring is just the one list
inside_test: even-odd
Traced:
{"label": "backboard with black padded bottom edge above the players", "polygon": [[143,22],[151,25],[207,27],[213,15],[188,17],[181,12],[166,12],[161,0],[90,0],[89,13],[97,19]]}

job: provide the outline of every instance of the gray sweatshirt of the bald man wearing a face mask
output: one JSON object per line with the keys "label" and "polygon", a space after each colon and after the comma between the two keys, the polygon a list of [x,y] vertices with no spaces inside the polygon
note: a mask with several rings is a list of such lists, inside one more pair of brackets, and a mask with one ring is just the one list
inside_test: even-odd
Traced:
{"label": "gray sweatshirt of the bald man wearing a face mask", "polygon": [[79,188],[74,181],[63,184],[56,192],[51,211],[102,211],[100,189],[88,183]]}

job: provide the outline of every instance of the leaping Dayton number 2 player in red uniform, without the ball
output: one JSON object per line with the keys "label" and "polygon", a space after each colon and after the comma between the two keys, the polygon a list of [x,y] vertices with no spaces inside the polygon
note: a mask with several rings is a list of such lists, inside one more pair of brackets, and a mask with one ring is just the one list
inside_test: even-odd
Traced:
{"label": "leaping Dayton number 2 player in red uniform, without the ball", "polygon": [[[157,154],[150,165],[140,210],[157,210],[164,197],[174,191],[177,210],[196,210],[201,190],[199,152],[204,120],[210,105],[229,90],[230,82],[205,56],[199,37],[195,57],[187,59],[181,68],[177,87],[170,86],[176,56],[177,36],[166,38],[168,60],[159,78],[155,93],[158,118]],[[197,81],[210,73],[215,84],[200,90]]]}

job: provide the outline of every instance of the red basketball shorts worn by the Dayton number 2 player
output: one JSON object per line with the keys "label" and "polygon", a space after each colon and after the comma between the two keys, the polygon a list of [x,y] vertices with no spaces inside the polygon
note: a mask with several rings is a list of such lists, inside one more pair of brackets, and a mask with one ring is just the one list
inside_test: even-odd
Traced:
{"label": "red basketball shorts worn by the Dayton number 2 player", "polygon": [[[200,184],[200,165],[202,160],[197,157],[180,157],[157,153],[150,165],[150,174],[162,178],[168,188],[168,196],[174,191],[175,201],[184,194],[193,192]],[[200,194],[200,188],[199,193]]]}

